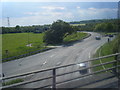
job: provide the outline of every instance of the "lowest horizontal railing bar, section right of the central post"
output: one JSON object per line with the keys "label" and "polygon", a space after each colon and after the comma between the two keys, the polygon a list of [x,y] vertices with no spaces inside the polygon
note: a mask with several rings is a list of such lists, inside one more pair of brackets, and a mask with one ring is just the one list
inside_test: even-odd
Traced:
{"label": "lowest horizontal railing bar, section right of the central post", "polygon": [[90,74],[82,75],[80,77],[69,79],[69,80],[66,80],[66,81],[57,82],[56,84],[62,84],[62,83],[68,82],[68,81],[73,81],[73,80],[78,79],[78,78],[87,77],[87,76],[90,76],[90,75],[93,75],[93,74],[97,74],[97,73],[100,73],[100,72],[109,71],[109,70],[112,70],[112,69],[117,68],[117,67],[120,67],[120,65],[112,67],[112,68],[107,68],[107,69],[104,69],[104,70],[99,70],[99,71],[96,71],[96,72],[93,72],[93,73],[90,73]]}

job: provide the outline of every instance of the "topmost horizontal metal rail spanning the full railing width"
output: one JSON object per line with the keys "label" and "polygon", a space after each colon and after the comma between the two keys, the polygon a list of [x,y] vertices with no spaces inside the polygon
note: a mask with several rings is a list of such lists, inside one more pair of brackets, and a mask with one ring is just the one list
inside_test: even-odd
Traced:
{"label": "topmost horizontal metal rail spanning the full railing width", "polygon": [[[116,55],[120,55],[120,53],[111,54],[111,55],[107,55],[107,56],[102,56],[102,57],[99,57],[99,58],[94,58],[94,59],[90,59],[88,61],[79,62],[79,63],[90,62],[90,61],[99,60],[99,59],[103,59],[103,58],[108,58],[108,57],[112,57],[112,56],[116,56]],[[29,75],[29,74],[33,74],[33,73],[40,73],[40,72],[50,71],[50,70],[53,70],[53,69],[73,66],[73,65],[76,65],[76,64],[79,64],[79,63],[68,64],[68,65],[63,65],[63,66],[57,66],[57,67],[52,67],[52,68],[49,68],[49,69],[37,70],[37,71],[23,73],[23,74],[18,74],[18,75],[13,75],[13,76],[9,76],[9,77],[3,77],[3,80],[10,79],[10,78],[16,78],[16,77],[20,77],[20,76],[25,76],[25,75]]]}

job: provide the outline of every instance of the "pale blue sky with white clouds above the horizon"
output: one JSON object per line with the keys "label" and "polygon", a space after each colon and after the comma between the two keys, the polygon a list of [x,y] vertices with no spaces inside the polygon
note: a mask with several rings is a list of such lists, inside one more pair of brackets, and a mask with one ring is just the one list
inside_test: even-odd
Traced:
{"label": "pale blue sky with white clouds above the horizon", "polygon": [[[19,0],[18,0],[19,1]],[[117,18],[116,2],[8,2],[3,1],[2,26],[31,26],[51,24],[61,19],[66,22]]]}

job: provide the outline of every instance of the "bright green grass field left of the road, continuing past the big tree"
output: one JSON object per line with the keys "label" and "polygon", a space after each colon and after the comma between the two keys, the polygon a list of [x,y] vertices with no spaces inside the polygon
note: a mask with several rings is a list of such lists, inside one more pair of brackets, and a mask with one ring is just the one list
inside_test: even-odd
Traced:
{"label": "bright green grass field left of the road, continuing past the big tree", "polygon": [[[64,42],[79,40],[85,37],[86,33],[74,33],[64,38]],[[2,35],[2,58],[18,56],[32,51],[45,49],[43,42],[44,33],[14,33]],[[27,47],[27,44],[32,44],[32,47]],[[6,53],[8,50],[8,53]]]}

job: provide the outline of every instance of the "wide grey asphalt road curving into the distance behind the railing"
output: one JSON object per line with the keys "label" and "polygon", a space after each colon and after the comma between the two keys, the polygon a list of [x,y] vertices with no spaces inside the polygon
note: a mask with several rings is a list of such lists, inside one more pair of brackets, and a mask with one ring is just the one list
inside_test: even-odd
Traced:
{"label": "wide grey asphalt road curving into the distance behind the railing", "polygon": [[[2,64],[3,73],[6,76],[21,74],[25,72],[30,72],[34,70],[42,70],[47,69],[55,66],[66,65],[71,63],[78,63],[82,61],[87,61],[92,57],[92,55],[96,52],[96,50],[102,46],[104,43],[107,42],[107,37],[102,37],[101,40],[95,40],[95,36],[100,36],[98,33],[91,33],[89,38],[86,38],[82,41],[69,44],[68,46],[59,46],[55,49],[42,52],[36,55],[32,55],[29,57],[17,59],[14,61],[5,62]],[[90,64],[87,64],[88,66]],[[78,66],[73,66],[69,68],[60,69],[57,73],[63,73],[66,71],[71,71],[77,69]],[[90,71],[89,71],[90,72]],[[79,76],[78,73],[73,73],[64,77],[58,77],[57,81],[67,80],[73,77]],[[36,74],[33,75],[32,79],[37,79],[42,76],[49,76],[52,75],[51,72]],[[47,81],[51,82],[51,80]],[[46,81],[44,81],[45,84]],[[33,87],[28,85],[29,87]],[[37,84],[35,84],[37,85]],[[40,84],[38,84],[40,85]]]}

